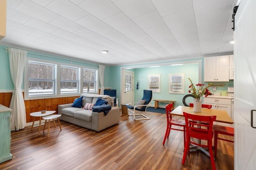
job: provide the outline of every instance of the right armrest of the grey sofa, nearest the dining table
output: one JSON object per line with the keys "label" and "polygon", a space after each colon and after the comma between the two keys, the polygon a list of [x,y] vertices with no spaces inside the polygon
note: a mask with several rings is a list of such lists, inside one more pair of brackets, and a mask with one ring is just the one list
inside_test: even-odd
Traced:
{"label": "right armrest of the grey sofa, nearest the dining table", "polygon": [[119,115],[119,107],[112,107],[106,116],[104,115],[103,111],[92,111],[92,130],[101,131],[102,129],[119,123]]}

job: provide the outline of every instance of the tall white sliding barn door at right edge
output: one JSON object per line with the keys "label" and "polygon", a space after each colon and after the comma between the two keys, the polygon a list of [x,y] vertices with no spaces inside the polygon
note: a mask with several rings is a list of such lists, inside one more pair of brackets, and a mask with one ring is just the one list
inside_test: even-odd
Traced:
{"label": "tall white sliding barn door at right edge", "polygon": [[[235,169],[255,170],[256,129],[251,110],[256,109],[256,0],[241,0],[234,30]],[[256,126],[256,111],[254,126]]]}

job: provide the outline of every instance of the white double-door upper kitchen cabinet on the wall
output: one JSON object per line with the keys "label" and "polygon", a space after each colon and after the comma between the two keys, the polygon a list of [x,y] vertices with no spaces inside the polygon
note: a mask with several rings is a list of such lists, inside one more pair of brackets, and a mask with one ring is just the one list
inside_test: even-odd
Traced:
{"label": "white double-door upper kitchen cabinet on the wall", "polygon": [[229,81],[229,55],[204,58],[204,81]]}

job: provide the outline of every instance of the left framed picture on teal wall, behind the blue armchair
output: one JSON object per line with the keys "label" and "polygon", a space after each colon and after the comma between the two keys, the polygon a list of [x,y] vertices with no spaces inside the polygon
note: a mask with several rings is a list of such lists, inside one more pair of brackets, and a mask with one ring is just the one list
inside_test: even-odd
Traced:
{"label": "left framed picture on teal wall, behind the blue armchair", "polygon": [[161,92],[161,74],[148,75],[148,90],[152,90],[153,93]]}

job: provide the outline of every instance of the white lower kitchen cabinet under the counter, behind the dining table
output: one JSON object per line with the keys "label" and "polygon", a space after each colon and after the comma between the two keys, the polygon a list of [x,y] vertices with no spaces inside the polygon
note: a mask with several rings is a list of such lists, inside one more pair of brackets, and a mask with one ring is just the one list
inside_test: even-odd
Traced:
{"label": "white lower kitchen cabinet under the counter, behind the dining table", "polygon": [[[231,99],[204,98],[204,104],[212,105],[212,109],[225,110],[231,117]],[[214,122],[214,124],[231,127],[228,123]]]}

